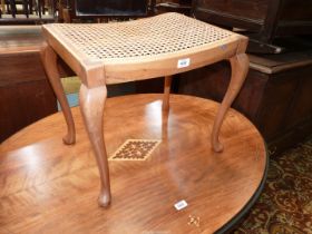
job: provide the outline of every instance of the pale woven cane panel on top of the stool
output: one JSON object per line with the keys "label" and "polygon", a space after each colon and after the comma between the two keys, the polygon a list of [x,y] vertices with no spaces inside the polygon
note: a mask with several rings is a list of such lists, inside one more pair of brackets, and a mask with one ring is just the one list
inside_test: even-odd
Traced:
{"label": "pale woven cane panel on top of the stool", "polygon": [[47,29],[89,59],[115,61],[181,52],[233,36],[177,13],[106,25],[49,25]]}

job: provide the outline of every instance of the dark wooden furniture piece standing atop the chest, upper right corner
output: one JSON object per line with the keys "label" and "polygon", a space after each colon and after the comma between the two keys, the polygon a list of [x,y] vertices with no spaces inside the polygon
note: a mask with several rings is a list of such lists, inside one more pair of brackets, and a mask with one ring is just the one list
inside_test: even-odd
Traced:
{"label": "dark wooden furniture piece standing atop the chest, upper right corner", "polygon": [[312,1],[306,0],[194,0],[197,19],[247,30],[250,52],[277,53],[274,39],[312,35]]}

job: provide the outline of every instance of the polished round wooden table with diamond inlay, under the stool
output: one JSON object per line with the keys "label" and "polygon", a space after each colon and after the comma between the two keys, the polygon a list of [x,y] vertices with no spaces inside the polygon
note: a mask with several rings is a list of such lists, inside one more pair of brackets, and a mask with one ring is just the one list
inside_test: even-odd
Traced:
{"label": "polished round wooden table with diamond inlay, under the stool", "polygon": [[[108,208],[94,202],[99,174],[78,108],[76,145],[62,144],[60,113],[1,144],[0,233],[184,234],[233,226],[265,181],[261,135],[231,109],[220,135],[226,150],[215,153],[209,133],[218,104],[173,95],[169,115],[162,116],[162,99],[134,95],[106,103]],[[187,206],[177,211],[181,201]]]}

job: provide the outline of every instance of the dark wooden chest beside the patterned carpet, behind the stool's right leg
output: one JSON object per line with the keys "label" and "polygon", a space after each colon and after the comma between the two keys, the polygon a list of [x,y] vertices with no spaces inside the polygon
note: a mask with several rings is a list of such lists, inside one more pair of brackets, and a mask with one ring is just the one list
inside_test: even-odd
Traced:
{"label": "dark wooden chest beside the patterned carpet, behind the stool's right leg", "polygon": [[[233,106],[277,154],[312,134],[312,50],[250,59],[250,72]],[[227,62],[183,74],[178,92],[221,100],[230,75]]]}

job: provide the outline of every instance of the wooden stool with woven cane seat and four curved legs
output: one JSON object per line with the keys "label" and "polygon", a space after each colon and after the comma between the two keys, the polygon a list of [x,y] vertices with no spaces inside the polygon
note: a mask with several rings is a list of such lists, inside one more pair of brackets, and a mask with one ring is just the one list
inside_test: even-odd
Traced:
{"label": "wooden stool with woven cane seat and four curved legs", "polygon": [[228,59],[232,77],[211,137],[212,148],[223,150],[220,129],[248,70],[247,38],[178,13],[107,25],[55,23],[42,26],[42,30],[47,39],[42,62],[68,126],[65,144],[74,144],[76,133],[57,70],[57,55],[82,82],[80,110],[99,168],[100,206],[111,199],[103,134],[106,85],[165,76],[163,111],[168,113],[172,75]]}

